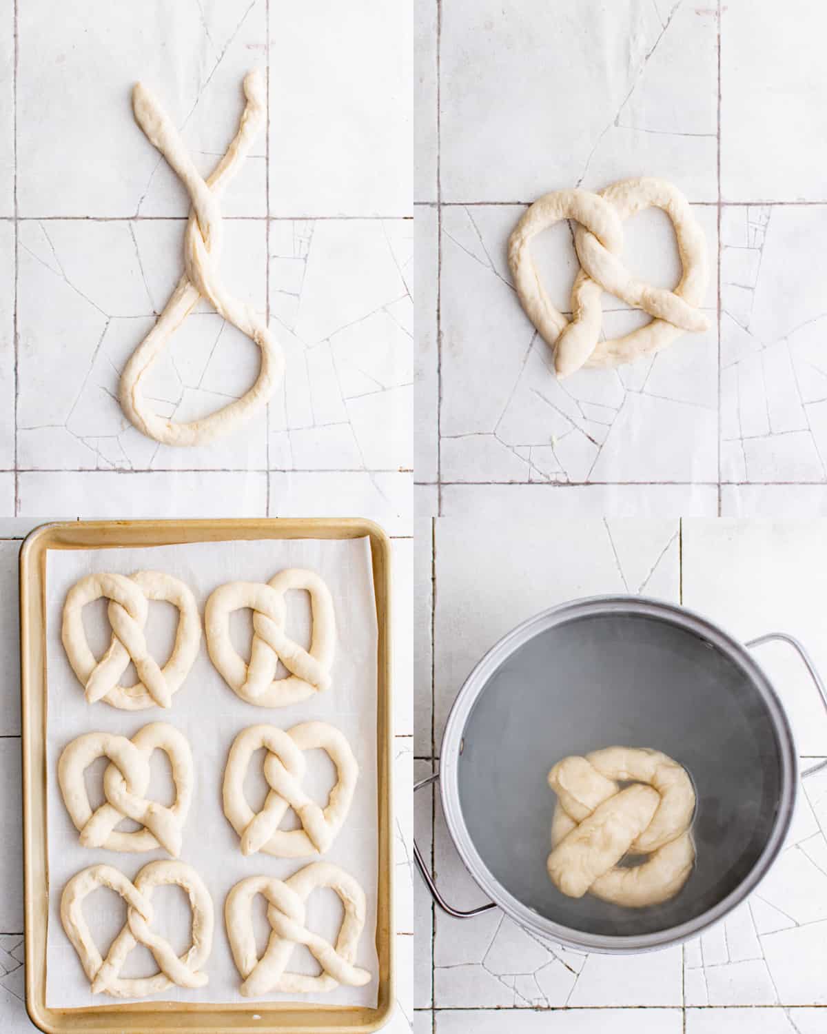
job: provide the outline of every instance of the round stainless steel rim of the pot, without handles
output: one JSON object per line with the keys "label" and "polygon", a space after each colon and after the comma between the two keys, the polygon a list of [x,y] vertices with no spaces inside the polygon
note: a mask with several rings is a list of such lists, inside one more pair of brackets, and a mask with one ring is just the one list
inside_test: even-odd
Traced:
{"label": "round stainless steel rim of the pot, without handles", "polygon": [[[573,620],[610,613],[635,614],[664,620],[687,632],[694,632],[722,650],[744,672],[761,694],[778,733],[780,756],[782,792],[776,819],[761,855],[739,886],[713,908],[687,922],[636,936],[587,934],[563,926],[540,915],[514,898],[488,870],[478,853],[465,825],[459,800],[458,762],[463,731],[478,696],[494,671],[519,646],[535,635]],[[439,758],[439,786],[446,822],[465,868],[490,899],[516,922],[542,938],[556,941],[578,951],[613,954],[655,950],[695,937],[717,922],[752,893],[782,849],[792,821],[798,786],[798,761],[787,712],[764,669],[748,652],[747,647],[693,610],[667,601],[637,596],[595,596],[574,600],[529,617],[503,636],[483,657],[463,682],[446,723]]]}

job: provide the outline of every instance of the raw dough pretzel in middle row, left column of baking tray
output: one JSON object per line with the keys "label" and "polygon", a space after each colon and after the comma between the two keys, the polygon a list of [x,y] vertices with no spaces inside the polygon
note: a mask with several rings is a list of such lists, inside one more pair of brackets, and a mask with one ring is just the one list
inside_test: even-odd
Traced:
{"label": "raw dough pretzel in middle row, left column of baking tray", "polygon": [[[149,759],[155,750],[163,751],[170,759],[176,790],[172,808],[145,796],[150,781]],[[100,757],[111,761],[103,773],[106,803],[93,812],[84,772]],[[194,768],[189,743],[173,726],[153,722],[131,739],[109,732],[78,736],[60,755],[58,783],[84,847],[102,847],[108,851],[154,851],[163,847],[174,858],[181,853]],[[116,829],[123,818],[133,819],[144,828],[134,832]]]}

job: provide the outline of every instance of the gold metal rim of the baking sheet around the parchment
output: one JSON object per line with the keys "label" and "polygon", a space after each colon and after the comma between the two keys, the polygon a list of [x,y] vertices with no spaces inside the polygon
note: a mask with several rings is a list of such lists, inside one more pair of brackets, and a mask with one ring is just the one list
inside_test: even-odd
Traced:
{"label": "gold metal rim of the baking sheet around the parchment", "polygon": [[[373,569],[377,640],[376,762],[378,894],[376,1008],[317,1003],[251,1001],[108,1003],[51,1008],[45,997],[49,872],[47,828],[47,613],[45,571],[50,549],[141,548],[185,543],[266,539],[367,538]],[[377,525],[362,519],[205,521],[89,521],[50,524],[29,536],[21,551],[21,667],[26,878],[27,1008],[44,1031],[372,1031],[393,1008],[392,894],[392,707],[390,657],[390,543]]]}

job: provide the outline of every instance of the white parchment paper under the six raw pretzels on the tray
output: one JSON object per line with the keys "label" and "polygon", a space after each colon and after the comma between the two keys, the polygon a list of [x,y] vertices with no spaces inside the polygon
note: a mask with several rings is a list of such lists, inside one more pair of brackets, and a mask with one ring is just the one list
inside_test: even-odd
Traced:
{"label": "white parchment paper under the six raw pretzels on the tray", "polygon": [[[167,572],[192,589],[202,616],[209,595],[218,585],[233,580],[268,581],[286,567],[306,567],[327,582],[336,612],[337,643],[333,663],[333,685],[326,693],[281,708],[255,707],[232,692],[207,655],[206,641],[183,687],[169,710],[159,707],[144,711],[118,710],[102,702],[89,705],[63,650],[60,640],[61,615],[66,592],[79,578],[90,572],[114,571],[130,574],[139,570]],[[310,608],[306,592],[287,596],[287,633],[307,645]],[[177,611],[171,604],[153,603],[147,622],[147,639],[153,656],[165,661],[175,638]],[[100,656],[109,642],[105,603],[86,608],[84,624],[90,646]],[[242,656],[249,657],[251,619],[249,611],[235,615],[231,634]],[[209,984],[189,991],[173,986],[142,1001],[192,1001],[201,1003],[238,1002],[253,1004],[239,994],[241,978],[236,970],[223,922],[223,905],[229,889],[239,880],[253,875],[285,878],[317,860],[274,858],[255,854],[245,858],[239,838],[223,815],[221,784],[229,747],[238,733],[250,725],[271,723],[289,728],[299,722],[320,720],[336,725],[347,737],[360,766],[359,782],[347,820],[324,860],[341,865],[362,884],[367,898],[367,920],[360,939],[357,964],[373,974],[364,987],[340,986],[328,995],[299,996],[305,1002],[328,1005],[375,1007],[378,963],[375,949],[377,893],[376,821],[376,642],[377,627],[370,543],[367,538],[346,541],[266,540],[251,542],[193,543],[146,549],[50,550],[47,558],[47,663],[48,704],[47,784],[49,810],[50,912],[47,938],[47,1005],[71,1008],[115,1001],[110,996],[93,996],[80,960],[60,922],[60,895],[71,876],[98,862],[120,869],[130,879],[147,862],[169,857],[164,851],[122,853],[88,849],[80,845],[60,794],[57,765],[60,752],[75,736],[95,730],[131,736],[149,722],[169,722],[189,740],[195,768],[195,793],[184,826],[181,860],[197,871],[207,884],[215,909],[213,950],[205,966]],[[122,681],[133,680],[127,672]],[[261,808],[266,784],[261,773],[264,752],[256,752],[245,791],[251,807]],[[315,799],[324,799],[335,772],[320,751],[309,752],[305,787]],[[90,801],[102,798],[101,779],[105,760],[87,770]],[[173,787],[164,756],[156,751],[151,761],[152,781],[148,796],[172,802]],[[288,818],[292,818],[289,813]],[[289,826],[285,819],[283,828]],[[122,828],[132,828],[128,820]],[[177,950],[189,943],[190,913],[183,891],[159,888],[153,894],[153,929],[165,936]],[[261,956],[269,923],[266,905],[255,901],[254,930]],[[105,955],[109,944],[123,925],[126,907],[113,891],[98,889],[84,903],[84,913]],[[307,903],[308,925],[329,940],[338,931],[341,906],[332,890],[318,890]],[[294,950],[290,969],[314,973],[315,961],[303,947]],[[127,959],[122,976],[143,976],[157,971],[151,954],[137,946]],[[117,999],[117,1001],[125,1001]],[[259,1001],[297,1001],[297,996],[270,993]]]}

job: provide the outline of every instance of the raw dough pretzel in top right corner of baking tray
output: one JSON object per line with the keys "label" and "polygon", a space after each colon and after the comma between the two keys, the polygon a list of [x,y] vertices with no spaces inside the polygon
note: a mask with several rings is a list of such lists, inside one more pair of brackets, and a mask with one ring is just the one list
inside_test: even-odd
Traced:
{"label": "raw dough pretzel in top right corner of baking tray", "polygon": [[[310,596],[312,635],[308,650],[284,631],[288,589],[306,589]],[[253,611],[249,664],[229,639],[229,615],[244,607]],[[205,625],[213,664],[247,703],[284,707],[330,687],[336,618],[330,589],[312,571],[288,568],[267,585],[241,581],[220,585],[207,601]],[[286,678],[276,678],[279,661],[290,672]]]}

